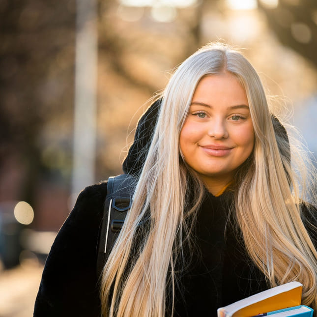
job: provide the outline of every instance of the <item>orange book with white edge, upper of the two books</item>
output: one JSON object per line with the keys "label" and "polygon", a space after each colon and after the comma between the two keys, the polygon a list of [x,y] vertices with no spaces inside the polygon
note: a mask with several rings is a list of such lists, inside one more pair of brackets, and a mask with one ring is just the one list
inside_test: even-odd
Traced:
{"label": "orange book with white edge, upper of the two books", "polygon": [[218,308],[218,317],[251,317],[301,305],[303,285],[290,282]]}

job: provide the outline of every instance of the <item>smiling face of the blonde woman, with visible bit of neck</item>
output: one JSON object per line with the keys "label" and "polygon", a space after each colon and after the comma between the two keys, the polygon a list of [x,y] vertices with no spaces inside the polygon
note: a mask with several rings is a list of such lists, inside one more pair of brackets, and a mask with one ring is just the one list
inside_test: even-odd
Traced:
{"label": "smiling face of the blonde woman, with visible bit of neck", "polygon": [[254,130],[248,99],[236,77],[224,72],[203,77],[180,132],[180,150],[213,194],[249,157]]}

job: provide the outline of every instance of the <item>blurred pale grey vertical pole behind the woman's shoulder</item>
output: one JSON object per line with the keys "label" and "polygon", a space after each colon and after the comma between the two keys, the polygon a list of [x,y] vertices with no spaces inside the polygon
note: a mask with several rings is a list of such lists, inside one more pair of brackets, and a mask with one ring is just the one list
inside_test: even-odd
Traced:
{"label": "blurred pale grey vertical pole behind the woman's shoulder", "polygon": [[72,205],[95,181],[97,0],[77,0]]}

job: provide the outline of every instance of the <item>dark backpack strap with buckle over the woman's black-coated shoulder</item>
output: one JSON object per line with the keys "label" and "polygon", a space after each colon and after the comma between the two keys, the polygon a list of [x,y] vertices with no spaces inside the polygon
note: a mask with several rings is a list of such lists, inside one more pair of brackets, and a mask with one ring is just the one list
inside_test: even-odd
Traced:
{"label": "dark backpack strap with buckle over the woman's black-coated shoulder", "polygon": [[134,180],[127,174],[109,177],[98,241],[97,276],[101,275],[130,209]]}

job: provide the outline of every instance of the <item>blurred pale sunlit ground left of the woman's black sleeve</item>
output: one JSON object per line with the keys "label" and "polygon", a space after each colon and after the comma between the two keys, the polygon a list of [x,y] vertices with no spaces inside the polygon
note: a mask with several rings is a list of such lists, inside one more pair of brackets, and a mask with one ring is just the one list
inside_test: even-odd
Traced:
{"label": "blurred pale sunlit ground left of the woman's black sleeve", "polygon": [[0,317],[31,317],[43,266],[35,260],[0,271]]}

